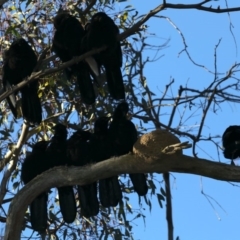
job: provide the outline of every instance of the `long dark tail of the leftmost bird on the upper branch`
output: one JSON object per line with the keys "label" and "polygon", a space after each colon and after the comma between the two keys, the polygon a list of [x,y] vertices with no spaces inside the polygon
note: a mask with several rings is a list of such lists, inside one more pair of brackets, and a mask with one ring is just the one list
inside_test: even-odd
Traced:
{"label": "long dark tail of the leftmost bird on the upper branch", "polygon": [[26,86],[21,89],[23,117],[31,123],[41,123],[42,107],[38,97],[37,89]]}

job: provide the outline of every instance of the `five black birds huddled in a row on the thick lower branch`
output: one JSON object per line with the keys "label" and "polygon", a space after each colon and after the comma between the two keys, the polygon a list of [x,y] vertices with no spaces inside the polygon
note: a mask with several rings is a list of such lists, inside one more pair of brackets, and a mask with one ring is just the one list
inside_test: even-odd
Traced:
{"label": "five black birds huddled in a row on the thick lower branch", "polygon": [[[69,139],[66,126],[57,124],[51,141],[37,142],[32,153],[26,157],[21,175],[24,184],[55,166],[84,166],[131,152],[137,140],[137,131],[134,124],[128,120],[127,113],[128,104],[122,102],[116,107],[111,122],[109,117],[100,117],[95,122],[94,133],[77,130]],[[138,195],[146,195],[148,186],[145,174],[129,175]],[[92,217],[99,213],[98,191],[103,207],[115,207],[122,201],[118,176],[100,180],[98,188],[96,182],[77,186],[82,216]],[[77,212],[73,187],[59,187],[58,195],[64,221],[73,222]],[[42,232],[47,227],[47,201],[48,194],[45,192],[30,205],[30,221],[35,231]]]}

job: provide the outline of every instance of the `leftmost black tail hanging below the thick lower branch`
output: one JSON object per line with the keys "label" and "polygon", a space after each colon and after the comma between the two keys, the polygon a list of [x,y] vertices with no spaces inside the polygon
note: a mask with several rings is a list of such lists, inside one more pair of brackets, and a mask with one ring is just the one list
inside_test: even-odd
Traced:
{"label": "leftmost black tail hanging below the thick lower branch", "polygon": [[47,201],[48,195],[44,192],[30,204],[30,221],[35,231],[44,232],[47,228]]}

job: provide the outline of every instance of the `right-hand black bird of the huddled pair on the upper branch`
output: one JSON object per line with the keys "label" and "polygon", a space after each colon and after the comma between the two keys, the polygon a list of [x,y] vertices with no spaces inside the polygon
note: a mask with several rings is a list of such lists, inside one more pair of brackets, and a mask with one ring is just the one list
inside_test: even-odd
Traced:
{"label": "right-hand black bird of the huddled pair on the upper branch", "polygon": [[82,48],[89,51],[106,46],[105,51],[95,54],[96,61],[104,66],[110,95],[114,99],[125,99],[122,78],[122,50],[117,40],[119,29],[114,21],[104,12],[92,16],[85,26],[86,35],[82,40]]}

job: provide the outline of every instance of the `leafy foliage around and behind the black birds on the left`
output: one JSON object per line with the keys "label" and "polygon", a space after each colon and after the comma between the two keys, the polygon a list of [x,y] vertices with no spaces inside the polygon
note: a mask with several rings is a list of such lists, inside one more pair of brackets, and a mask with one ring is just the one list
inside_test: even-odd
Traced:
{"label": "leafy foliage around and behind the black birds on the left", "polygon": [[[135,10],[131,6],[127,6],[125,10],[114,13],[110,11],[114,1],[100,1],[96,3],[90,11],[86,11],[87,5],[76,1],[68,1],[64,4],[57,1],[10,1],[4,5],[4,11],[1,12],[1,24],[4,31],[1,34],[1,52],[2,54],[10,46],[13,39],[24,37],[32,45],[32,48],[38,55],[38,58],[44,56],[39,71],[58,67],[61,62],[51,53],[51,43],[53,38],[53,17],[58,10],[68,10],[71,14],[77,16],[84,25],[92,14],[97,11],[106,11],[119,25],[121,30],[130,28],[137,18],[137,12],[132,14]],[[134,106],[142,109],[147,107],[147,102],[141,97],[144,89],[146,89],[146,81],[139,81],[141,79],[140,69],[143,67],[140,63],[141,52],[145,48],[145,33],[142,30],[137,32],[133,38],[124,40],[122,42],[122,49],[124,53],[124,68],[123,76],[127,100],[130,103],[131,110]],[[156,49],[159,47],[155,47]],[[146,64],[149,60],[146,60]],[[68,124],[69,129],[92,129],[93,123],[97,117],[112,114],[117,101],[113,102],[109,98],[108,89],[105,83],[104,69],[102,69],[101,82],[99,85],[95,83],[95,91],[98,95],[96,104],[93,106],[86,106],[81,102],[81,96],[76,87],[75,80],[69,82],[63,71],[58,71],[55,74],[47,75],[39,79],[38,95],[41,98],[43,107],[44,121],[28,132],[23,148],[19,153],[17,160],[14,160],[16,167],[11,171],[11,181],[8,184],[6,195],[7,197],[14,197],[14,195],[23,186],[20,182],[21,163],[28,151],[31,151],[31,146],[41,139],[49,140],[52,136],[51,127],[53,123],[59,121]],[[144,90],[144,91],[143,91]],[[133,94],[134,93],[134,94]],[[142,102],[141,104],[139,104]],[[144,107],[144,108],[142,108]],[[21,131],[22,118],[15,121],[5,101],[1,104],[1,123],[5,126],[1,130],[1,144],[3,147],[2,157],[7,153],[7,146],[15,145],[18,137],[16,132]],[[147,114],[147,110],[146,110]],[[145,121],[147,122],[147,121]],[[142,126],[138,127],[139,134],[142,134],[146,129]],[[71,132],[71,131],[70,131]],[[151,180],[150,188],[152,194],[155,194],[155,184]],[[49,239],[107,239],[112,236],[114,239],[129,238],[132,239],[132,224],[131,222],[136,218],[145,218],[143,211],[143,203],[140,201],[139,207],[133,209],[130,204],[129,194],[132,194],[133,187],[130,181],[125,176],[121,176],[121,186],[124,192],[124,201],[112,209],[101,208],[101,213],[93,218],[86,219],[81,216],[78,210],[78,216],[75,222],[71,225],[65,224],[61,218],[59,210],[58,196],[55,189],[51,190],[49,197]],[[12,189],[12,190],[11,190]],[[77,197],[77,195],[76,195]],[[145,203],[151,208],[151,201],[145,197]],[[7,211],[8,204],[4,206]],[[3,215],[6,216],[6,213]],[[132,216],[132,217],[130,217]],[[32,239],[38,238],[37,233],[29,231],[29,212],[25,215],[25,227],[23,228],[22,237],[30,237]],[[132,220],[129,220],[130,219]]]}

